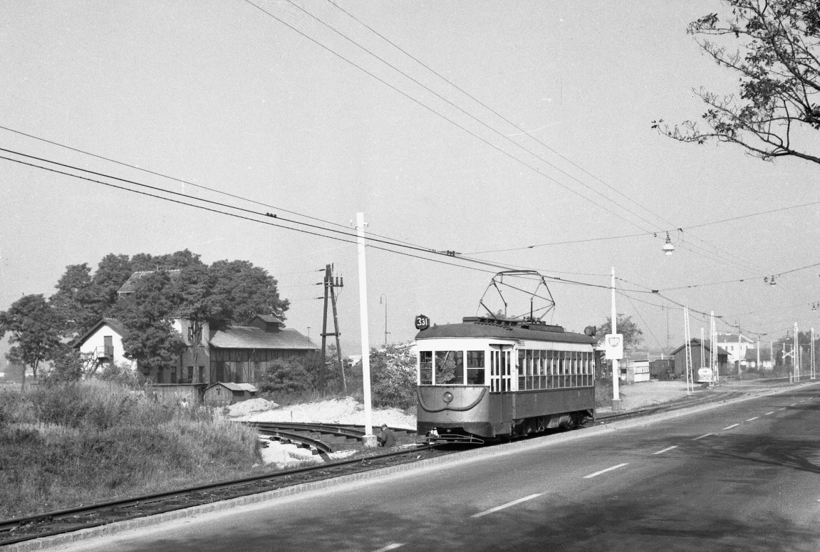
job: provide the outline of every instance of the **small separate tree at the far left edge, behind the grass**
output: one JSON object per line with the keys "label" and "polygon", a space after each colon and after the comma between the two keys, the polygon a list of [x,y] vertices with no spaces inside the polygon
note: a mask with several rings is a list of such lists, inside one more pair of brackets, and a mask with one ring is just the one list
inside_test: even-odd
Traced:
{"label": "small separate tree at the far left edge, behind the grass", "polygon": [[6,358],[23,364],[24,388],[25,367],[31,368],[36,380],[40,364],[61,348],[58,326],[59,320],[42,294],[25,295],[0,312],[0,339],[11,334]]}

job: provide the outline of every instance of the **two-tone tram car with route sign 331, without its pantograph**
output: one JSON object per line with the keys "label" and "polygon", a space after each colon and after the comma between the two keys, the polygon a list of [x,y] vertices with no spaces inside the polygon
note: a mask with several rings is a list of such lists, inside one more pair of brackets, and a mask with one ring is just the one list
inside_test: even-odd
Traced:
{"label": "two-tone tram car with route sign 331, without its pantograph", "polygon": [[481,443],[594,418],[594,328],[492,316],[417,327],[419,435]]}

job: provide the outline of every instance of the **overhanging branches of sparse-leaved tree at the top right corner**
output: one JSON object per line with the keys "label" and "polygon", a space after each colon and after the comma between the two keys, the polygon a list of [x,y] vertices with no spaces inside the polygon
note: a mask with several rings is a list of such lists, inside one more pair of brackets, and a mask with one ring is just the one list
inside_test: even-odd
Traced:
{"label": "overhanging branches of sparse-leaved tree at the top right corner", "polygon": [[[765,161],[799,157],[820,163],[811,149],[810,130],[820,130],[820,4],[814,0],[722,0],[731,16],[717,13],[690,23],[687,32],[700,48],[740,75],[740,95],[723,96],[705,89],[695,94],[708,106],[707,129],[693,121],[653,128],[681,142],[710,139],[738,144]],[[708,38],[719,37],[722,42]],[[727,48],[726,39],[742,41]]]}

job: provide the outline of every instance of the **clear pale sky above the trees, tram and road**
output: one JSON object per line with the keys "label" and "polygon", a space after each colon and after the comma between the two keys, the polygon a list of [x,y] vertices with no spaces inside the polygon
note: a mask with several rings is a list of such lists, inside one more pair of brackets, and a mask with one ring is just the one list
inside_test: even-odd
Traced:
{"label": "clear pale sky above the trees, tram and road", "polygon": [[818,205],[692,228],[820,202],[820,167],[651,128],[698,118],[693,89],[736,91],[686,34],[719,2],[334,2],[2,2],[3,157],[221,212],[0,159],[0,310],[70,264],[190,249],[265,268],[318,341],[332,263],[358,354],[363,212],[369,238],[416,248],[368,241],[371,346],[385,323],[403,342],[418,314],[481,314],[503,267],[548,276],[545,320],[570,331],[609,316],[614,267],[654,349],[682,343],[679,304],[693,337],[711,311],[763,342],[820,328],[820,267],[763,282],[820,262]]}

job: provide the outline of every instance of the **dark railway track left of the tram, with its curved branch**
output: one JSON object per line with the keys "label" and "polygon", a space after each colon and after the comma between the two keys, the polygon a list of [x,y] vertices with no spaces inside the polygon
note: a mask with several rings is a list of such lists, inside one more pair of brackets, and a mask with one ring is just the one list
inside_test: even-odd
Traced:
{"label": "dark railway track left of the tram, with its curved branch", "polygon": [[[299,443],[316,450],[317,442],[320,448],[329,447],[330,452],[342,449],[340,443],[324,443],[303,433],[318,432],[317,428],[303,427],[304,424],[260,424],[260,432],[278,432],[280,440]],[[307,426],[319,424],[307,424]],[[331,431],[334,426],[321,424],[321,435],[342,434],[364,436],[363,428],[354,426],[335,427],[339,431]],[[290,433],[290,436],[285,436]],[[415,434],[413,434],[414,436]],[[353,440],[355,437],[353,437]],[[358,439],[358,448],[361,439]],[[331,440],[331,443],[333,441]],[[351,443],[352,444],[352,443]],[[190,508],[198,504],[209,504],[218,500],[228,500],[240,496],[255,495],[268,490],[277,490],[287,486],[294,486],[309,481],[321,481],[332,477],[339,477],[351,473],[367,472],[378,468],[386,468],[399,463],[415,462],[421,459],[433,458],[452,451],[441,450],[436,445],[419,445],[403,448],[389,453],[368,454],[332,462],[321,463],[305,468],[294,468],[280,472],[269,472],[252,477],[231,481],[216,481],[205,485],[191,486],[183,489],[168,490],[152,495],[142,495],[112,500],[98,504],[88,504],[77,508],[38,513],[22,518],[0,520],[0,546],[11,545],[17,542],[30,541],[43,536],[60,535],[62,533],[79,531],[89,527],[98,527],[112,522],[121,522],[134,518],[143,518],[157,513],[166,513],[174,510]],[[317,453],[319,454],[319,453]],[[327,453],[324,453],[327,454]]]}

